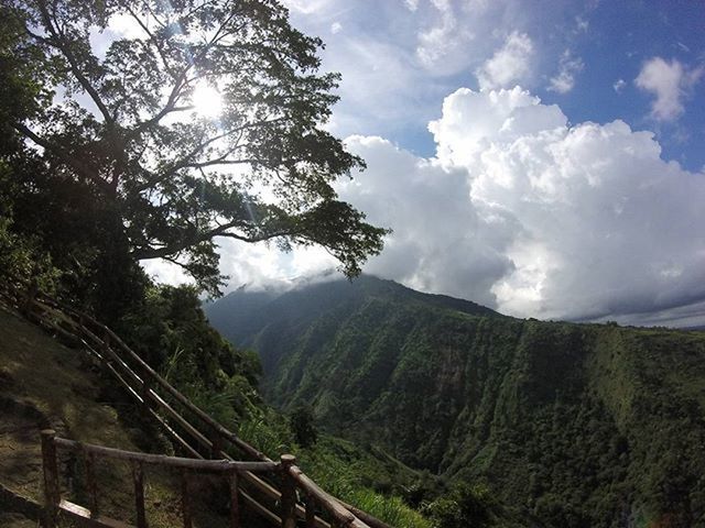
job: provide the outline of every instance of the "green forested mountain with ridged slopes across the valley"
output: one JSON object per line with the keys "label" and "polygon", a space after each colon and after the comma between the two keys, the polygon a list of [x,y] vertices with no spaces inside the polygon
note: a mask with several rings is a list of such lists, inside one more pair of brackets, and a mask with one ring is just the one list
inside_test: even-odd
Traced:
{"label": "green forested mountain with ridged slopes across the valley", "polygon": [[262,359],[267,398],[452,480],[524,526],[705,526],[705,334],[542,322],[373,277],[210,321]]}

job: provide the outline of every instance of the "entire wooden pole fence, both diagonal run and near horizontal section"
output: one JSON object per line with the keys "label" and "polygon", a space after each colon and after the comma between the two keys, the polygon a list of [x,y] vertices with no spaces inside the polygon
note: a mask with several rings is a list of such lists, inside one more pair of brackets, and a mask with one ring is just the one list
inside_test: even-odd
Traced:
{"label": "entire wooden pole fence, both diagonal run and near horizontal section", "polygon": [[[28,295],[14,293],[14,300],[29,318],[47,327],[64,338],[82,344],[106,366],[127,393],[141,406],[147,416],[156,420],[164,431],[172,438],[191,459],[169,458],[163,455],[148,455],[144,453],[128,453],[111,448],[98,446],[85,446],[66,439],[53,438],[48,441],[43,437],[42,447],[46,449],[48,459],[45,459],[45,490],[46,507],[48,510],[58,509],[73,516],[85,518],[97,515],[98,499],[90,492],[91,510],[73,503],[62,501],[54,486],[56,481],[55,451],[57,447],[64,449],[84,449],[87,453],[86,481],[91,490],[95,486],[95,458],[108,457],[122,460],[132,460],[138,464],[133,471],[135,490],[142,483],[142,464],[156,463],[178,468],[198,469],[198,471],[225,471],[216,468],[228,468],[226,471],[235,475],[230,479],[230,494],[234,507],[231,509],[231,526],[239,516],[239,502],[237,495],[242,498],[243,506],[251,508],[270,524],[285,528],[294,528],[296,519],[305,521],[307,528],[391,528],[383,521],[371,515],[355,508],[321,490],[301,469],[295,465],[291,455],[282,455],[280,462],[273,462],[264,453],[257,450],[236,433],[229,431],[223,425],[215,421],[206,413],[193,405],[176,388],[161,377],[150,367],[134,351],[132,351],[112,330],[96,321],[89,315],[48,296],[32,292]],[[45,446],[46,443],[46,446]],[[51,453],[54,452],[53,462]],[[234,461],[230,451],[245,454],[254,462]],[[119,454],[118,454],[119,453]],[[126,454],[128,453],[128,454]],[[130,459],[130,457],[132,457]],[[218,460],[206,460],[218,459]],[[165,462],[171,460],[172,462]],[[189,462],[185,462],[189,461]],[[197,463],[206,463],[198,465]],[[206,468],[212,469],[206,470]],[[52,465],[53,464],[53,465]],[[236,464],[236,465],[229,465]],[[239,465],[238,465],[239,464]],[[247,465],[256,464],[256,465]],[[264,464],[264,465],[258,465]],[[276,468],[276,470],[274,470]],[[235,469],[235,470],[234,470]],[[275,479],[275,476],[279,479]],[[50,480],[47,482],[47,479]],[[53,479],[53,480],[52,480]],[[281,484],[279,484],[281,483]],[[188,482],[183,481],[182,502],[184,506],[184,526],[191,526],[188,503]],[[278,485],[281,490],[278,490]],[[296,490],[305,497],[303,504],[297,502]],[[235,495],[234,495],[235,494]],[[139,494],[135,493],[135,506],[138,513],[138,527],[143,519],[143,510],[140,509]],[[52,509],[53,508],[53,509]],[[57,509],[58,508],[58,509]],[[316,515],[327,517],[325,520]],[[128,526],[109,519],[113,524],[95,526]],[[118,522],[118,524],[115,524]],[[144,525],[145,526],[145,525]]]}

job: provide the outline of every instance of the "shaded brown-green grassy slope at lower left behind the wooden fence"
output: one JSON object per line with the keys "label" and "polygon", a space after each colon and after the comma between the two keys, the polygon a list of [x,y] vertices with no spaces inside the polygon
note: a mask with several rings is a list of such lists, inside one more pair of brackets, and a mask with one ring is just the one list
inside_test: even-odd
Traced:
{"label": "shaded brown-green grassy slope at lower left behind the wooden fence", "polygon": [[[40,430],[47,426],[62,437],[139,451],[142,435],[135,424],[123,422],[117,409],[126,404],[106,392],[107,385],[84,352],[58,344],[0,304],[0,484],[41,502]],[[123,410],[129,415],[130,407]],[[76,461],[59,452],[59,464],[64,476],[75,472],[73,492],[66,490],[64,479],[64,496],[86,505]],[[101,513],[134,521],[130,469],[101,463],[98,479]],[[203,486],[195,486],[196,497],[208,493]],[[177,490],[172,475],[148,469],[150,526],[181,526]],[[212,506],[198,508],[195,526],[226,526],[223,517],[209,513],[216,509]],[[6,522],[13,522],[12,517],[0,518],[2,526]],[[17,526],[22,526],[20,520]]]}

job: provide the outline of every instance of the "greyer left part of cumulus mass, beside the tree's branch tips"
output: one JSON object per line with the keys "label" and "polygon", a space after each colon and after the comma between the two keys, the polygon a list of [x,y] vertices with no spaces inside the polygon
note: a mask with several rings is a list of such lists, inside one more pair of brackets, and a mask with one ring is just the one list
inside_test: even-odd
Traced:
{"label": "greyer left part of cumulus mass, beside the tree's branch tips", "polygon": [[370,221],[394,229],[366,272],[426,292],[462,290],[494,305],[491,286],[512,267],[505,253],[518,228],[513,219],[491,205],[476,207],[463,168],[416,157],[380,138],[354,136],[347,145],[369,169],[345,183],[341,197]]}

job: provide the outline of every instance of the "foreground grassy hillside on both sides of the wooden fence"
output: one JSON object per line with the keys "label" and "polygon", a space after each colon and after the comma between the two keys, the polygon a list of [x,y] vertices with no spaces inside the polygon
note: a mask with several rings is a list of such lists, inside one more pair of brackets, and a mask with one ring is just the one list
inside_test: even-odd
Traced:
{"label": "foreground grassy hillside on both sides of the wooden fence", "polygon": [[[154,320],[150,323],[154,324]],[[141,330],[145,328],[141,327]],[[172,330],[183,338],[183,328],[176,324]],[[133,400],[126,398],[123,387],[116,384],[99,361],[83,349],[62,345],[13,308],[3,305],[2,300],[0,344],[0,526],[34,526],[32,519],[40,517],[39,508],[43,501],[42,429],[51,428],[59,437],[104,447],[174,454],[174,446],[177,444],[167,440],[164,431],[155,421],[148,419],[143,409],[137,411]],[[183,349],[177,349],[176,353],[177,360],[187,360]],[[196,353],[203,355],[204,350],[198,349]],[[186,361],[185,367],[188,365]],[[209,388],[218,389],[216,386]],[[243,391],[241,398],[251,397],[247,394],[252,391],[249,384],[240,385],[240,388]],[[206,409],[226,417],[234,416],[238,402],[223,392],[218,395],[221,396],[219,404],[210,404],[210,407],[209,402],[203,399],[203,394],[194,396],[202,398],[199,405],[205,405]],[[317,485],[379,515],[390,526],[429,528],[430,522],[425,518],[390,493],[392,484],[404,486],[414,482],[417,479],[415,471],[387,453],[360,449],[327,435],[317,435],[317,441],[314,439],[302,446],[288,417],[260,404],[249,405],[247,417],[238,417],[231,425],[240,438],[258,446],[273,459],[282,453],[293,453],[300,468],[304,468]],[[188,454],[183,451],[175,454],[182,453]],[[97,464],[101,515],[134,522],[130,471],[130,464],[119,461],[101,459]],[[84,455],[59,450],[63,498],[88,504],[86,479]],[[178,472],[150,465],[147,479],[150,526],[181,526],[182,484]],[[221,479],[199,475],[192,480],[189,493],[194,526],[229,526],[228,493],[223,490]],[[246,526],[271,526],[249,508],[245,508],[241,516]]]}

